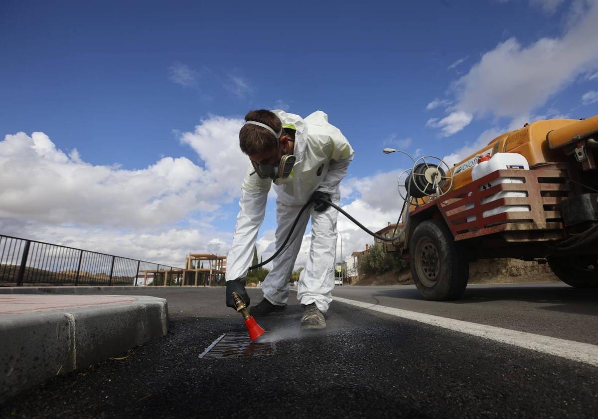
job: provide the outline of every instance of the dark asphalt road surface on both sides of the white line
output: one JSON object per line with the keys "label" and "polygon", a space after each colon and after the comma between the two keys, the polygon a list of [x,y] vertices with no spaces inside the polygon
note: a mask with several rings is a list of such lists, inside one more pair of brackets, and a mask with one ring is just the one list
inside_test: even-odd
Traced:
{"label": "dark asphalt road surface on both sides of the white line", "polygon": [[[532,294],[562,291],[565,302],[553,297],[547,306],[564,304],[570,309],[560,312],[578,315],[570,327],[594,327],[587,324],[596,318],[587,293],[544,287],[472,287],[452,305],[423,302],[405,287],[339,287],[335,294],[468,321],[495,321],[502,313],[496,321],[512,317],[511,326],[521,327],[526,316],[537,324],[544,311],[559,316]],[[242,317],[224,307],[224,289],[121,294],[142,291],[167,298],[169,335],[124,360],[56,377],[10,400],[0,417],[589,418],[598,411],[596,367],[338,302],[324,332],[300,331],[294,297],[283,315],[260,319],[276,341],[274,354],[199,359],[222,333],[244,330]],[[251,295],[257,302],[260,290]]]}

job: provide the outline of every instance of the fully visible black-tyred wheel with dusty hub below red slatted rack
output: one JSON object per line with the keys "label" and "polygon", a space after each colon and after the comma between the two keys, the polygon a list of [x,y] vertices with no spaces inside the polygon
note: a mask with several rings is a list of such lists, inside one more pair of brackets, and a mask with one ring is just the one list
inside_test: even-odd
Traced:
{"label": "fully visible black-tyred wheel with dusty hub below red slatted rack", "polygon": [[454,300],[463,294],[469,279],[469,262],[441,221],[419,224],[409,248],[411,278],[424,299]]}

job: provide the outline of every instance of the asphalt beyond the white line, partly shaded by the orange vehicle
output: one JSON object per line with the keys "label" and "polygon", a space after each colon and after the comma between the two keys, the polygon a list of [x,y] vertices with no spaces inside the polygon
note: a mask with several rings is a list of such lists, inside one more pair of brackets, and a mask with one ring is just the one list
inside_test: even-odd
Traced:
{"label": "asphalt beyond the white line, partly shaded by the orange vehicle", "polygon": [[563,283],[470,284],[456,301],[425,301],[414,285],[335,287],[334,295],[598,345],[598,289]]}

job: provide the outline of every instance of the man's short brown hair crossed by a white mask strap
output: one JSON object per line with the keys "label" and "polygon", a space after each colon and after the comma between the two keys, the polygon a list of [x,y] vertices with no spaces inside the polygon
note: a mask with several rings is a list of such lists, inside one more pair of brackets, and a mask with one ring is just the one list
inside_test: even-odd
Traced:
{"label": "man's short brown hair crossed by a white mask strap", "polygon": [[[249,111],[245,116],[245,121],[256,121],[266,124],[274,132],[280,132],[282,129],[282,122],[276,114],[260,109],[257,111]],[[241,151],[251,156],[251,154],[262,153],[263,151],[271,150],[277,147],[278,138],[266,128],[258,125],[244,125],[239,131],[239,147]]]}

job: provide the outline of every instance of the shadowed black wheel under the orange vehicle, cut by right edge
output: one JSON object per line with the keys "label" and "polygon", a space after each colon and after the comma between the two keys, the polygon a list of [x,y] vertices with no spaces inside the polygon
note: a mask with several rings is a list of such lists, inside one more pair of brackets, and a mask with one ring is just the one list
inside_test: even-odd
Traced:
{"label": "shadowed black wheel under the orange vehicle, cut by right edge", "polygon": [[554,275],[575,288],[598,288],[598,256],[573,255],[548,257]]}

